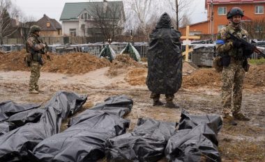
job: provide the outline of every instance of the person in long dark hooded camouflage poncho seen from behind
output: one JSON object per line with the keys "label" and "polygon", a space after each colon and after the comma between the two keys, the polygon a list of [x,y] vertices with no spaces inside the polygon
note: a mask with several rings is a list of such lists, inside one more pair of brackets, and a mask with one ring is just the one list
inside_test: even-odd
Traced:
{"label": "person in long dark hooded camouflage poncho seen from behind", "polygon": [[165,94],[168,108],[179,108],[174,104],[174,94],[181,88],[182,55],[181,33],[172,28],[167,13],[162,14],[156,29],[150,34],[148,49],[148,74],[146,85],[151,91],[153,106],[160,106],[160,94]]}

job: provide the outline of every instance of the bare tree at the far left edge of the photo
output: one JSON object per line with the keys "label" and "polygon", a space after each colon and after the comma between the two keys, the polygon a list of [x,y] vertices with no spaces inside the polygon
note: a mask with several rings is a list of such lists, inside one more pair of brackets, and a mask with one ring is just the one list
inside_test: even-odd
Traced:
{"label": "bare tree at the far left edge of the photo", "polygon": [[18,10],[12,8],[10,0],[0,0],[0,43],[3,44],[3,38],[15,33],[18,29],[18,24],[15,24],[15,17],[18,15]]}

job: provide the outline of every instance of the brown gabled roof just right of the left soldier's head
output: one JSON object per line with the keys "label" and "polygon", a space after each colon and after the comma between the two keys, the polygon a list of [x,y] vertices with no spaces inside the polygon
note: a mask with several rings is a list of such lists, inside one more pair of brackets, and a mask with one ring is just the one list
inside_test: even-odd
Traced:
{"label": "brown gabled roof just right of the left soldier's head", "polygon": [[[50,22],[50,27],[47,27],[47,22]],[[43,31],[57,31],[58,29],[61,29],[61,24],[57,22],[56,19],[51,19],[45,14],[38,20],[38,22],[36,22],[36,24],[40,26]]]}

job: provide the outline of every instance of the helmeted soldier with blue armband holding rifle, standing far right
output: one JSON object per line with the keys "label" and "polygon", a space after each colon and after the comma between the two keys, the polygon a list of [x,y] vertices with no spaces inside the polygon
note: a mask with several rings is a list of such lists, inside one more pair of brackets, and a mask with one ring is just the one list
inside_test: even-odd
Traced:
{"label": "helmeted soldier with blue armband holding rifle, standing far right", "polygon": [[241,113],[242,88],[245,70],[243,62],[244,48],[239,41],[229,39],[227,33],[232,33],[238,38],[248,40],[248,32],[241,27],[243,10],[232,8],[227,13],[229,25],[224,26],[218,33],[216,41],[218,54],[222,56],[222,108],[224,121],[236,125],[236,120],[250,120]]}

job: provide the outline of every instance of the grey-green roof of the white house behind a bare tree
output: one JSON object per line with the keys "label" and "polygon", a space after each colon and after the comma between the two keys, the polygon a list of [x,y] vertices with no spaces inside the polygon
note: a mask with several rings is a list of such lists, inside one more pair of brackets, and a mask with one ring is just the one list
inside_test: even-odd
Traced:
{"label": "grey-green roof of the white house behind a bare tree", "polygon": [[[93,12],[95,8],[98,6],[103,8],[104,6],[103,1],[100,2],[79,2],[79,3],[65,3],[63,7],[63,12],[61,13],[60,21],[63,20],[74,20],[77,19],[77,17],[86,10],[89,15],[95,17],[96,13]],[[118,12],[116,15],[119,15],[117,18],[121,17],[120,14],[123,14],[123,17],[125,17],[124,9],[123,9],[123,2],[122,1],[107,1],[107,10],[111,10],[111,6],[118,6],[119,10],[116,10]],[[112,5],[109,5],[112,4]],[[122,12],[121,12],[122,11]],[[106,14],[108,15],[108,14]]]}

